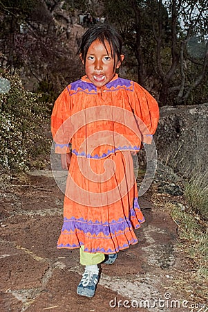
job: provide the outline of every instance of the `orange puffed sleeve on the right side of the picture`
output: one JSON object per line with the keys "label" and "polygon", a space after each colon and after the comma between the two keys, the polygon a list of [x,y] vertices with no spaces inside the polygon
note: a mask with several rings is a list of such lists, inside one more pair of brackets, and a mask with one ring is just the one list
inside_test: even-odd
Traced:
{"label": "orange puffed sleeve on the right side of the picture", "polygon": [[158,103],[143,87],[134,83],[133,110],[140,119],[142,142],[151,144],[153,134],[158,126]]}

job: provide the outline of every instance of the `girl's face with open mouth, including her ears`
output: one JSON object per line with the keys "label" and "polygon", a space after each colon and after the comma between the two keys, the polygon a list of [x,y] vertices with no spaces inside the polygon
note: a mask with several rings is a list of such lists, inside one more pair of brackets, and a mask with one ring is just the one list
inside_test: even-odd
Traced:
{"label": "girl's face with open mouth, including her ears", "polygon": [[[86,55],[86,76],[88,76],[91,83],[98,88],[101,88],[106,85],[106,83],[109,83],[115,76],[115,69],[119,68],[121,65],[120,60],[117,60],[116,56],[116,67],[114,69],[114,59],[113,55],[111,55],[111,46],[107,41],[105,41],[105,45],[106,48],[100,40],[95,40],[89,47]],[[121,55],[121,59],[124,59],[124,55]],[[82,62],[84,61],[82,60]]]}

